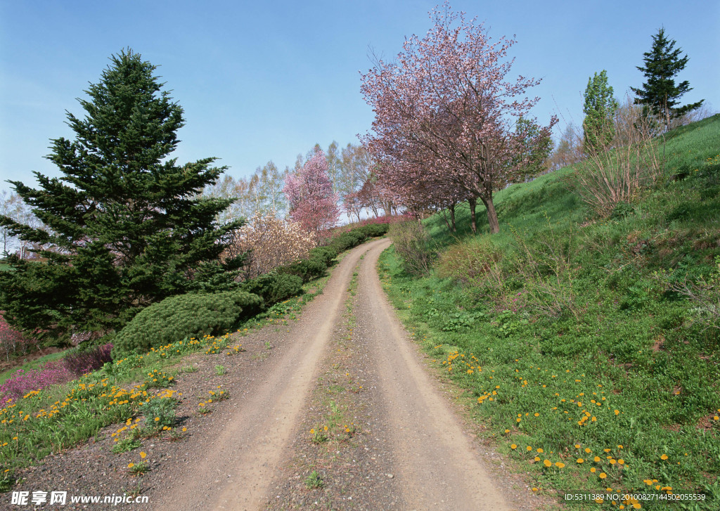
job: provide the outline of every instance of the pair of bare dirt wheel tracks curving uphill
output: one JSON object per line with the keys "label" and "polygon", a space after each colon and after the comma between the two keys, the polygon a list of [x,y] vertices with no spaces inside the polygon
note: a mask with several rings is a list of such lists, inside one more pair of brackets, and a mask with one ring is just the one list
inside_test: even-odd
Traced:
{"label": "pair of bare dirt wheel tracks curving uphill", "polygon": [[[364,438],[353,445],[372,453],[377,450],[374,442],[382,444],[382,475],[388,478],[387,484],[374,484],[367,495],[384,502],[382,493],[387,493],[387,502],[400,510],[516,509],[488,476],[477,446],[428,376],[387,302],[375,265],[389,245],[389,240],[361,245],[334,268],[323,294],[306,306],[289,333],[282,334],[284,339],[275,341],[283,343],[282,351],[265,362],[266,371],[249,384],[216,438],[194,449],[202,454],[175,474],[168,487],[151,492],[153,509],[260,510],[273,502],[279,509],[297,507],[279,502],[281,496],[271,485],[279,481],[278,474],[299,443],[309,444],[306,433],[301,433],[302,417],[344,309],[349,308],[351,279],[357,282],[352,338],[364,354],[362,378],[368,392],[363,395],[372,398],[366,404],[372,415],[382,415],[374,417],[372,428],[364,427],[372,434],[359,430],[355,440]],[[356,456],[351,458],[348,463],[356,461]],[[359,475],[357,479],[370,479]],[[363,506],[362,493],[352,498],[346,501],[347,509],[372,509]]]}

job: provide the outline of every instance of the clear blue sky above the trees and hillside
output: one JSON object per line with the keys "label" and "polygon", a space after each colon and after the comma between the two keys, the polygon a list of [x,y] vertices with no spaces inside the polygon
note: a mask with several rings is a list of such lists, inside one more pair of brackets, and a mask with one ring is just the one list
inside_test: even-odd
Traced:
{"label": "clear blue sky above the trees and hillside", "polygon": [[[185,111],[175,156],[221,158],[235,177],[274,160],[292,166],[315,143],[356,143],[372,111],[360,94],[368,48],[390,58],[425,34],[438,1],[0,0],[0,189],[59,176],[43,156],[72,137],[65,111],[130,47]],[[543,78],[534,114],[582,121],[582,91],[606,69],[616,96],[640,86],[642,53],[665,26],[690,57],[680,79],[720,109],[719,1],[453,1],[491,36],[516,35],[513,74]]]}

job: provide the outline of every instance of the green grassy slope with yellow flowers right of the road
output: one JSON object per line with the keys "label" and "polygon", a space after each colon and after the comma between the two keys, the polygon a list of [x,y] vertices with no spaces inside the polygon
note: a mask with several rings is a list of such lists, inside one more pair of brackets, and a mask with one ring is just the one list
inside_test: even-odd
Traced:
{"label": "green grassy slope with yellow flowers right of the road", "polygon": [[[720,255],[720,115],[672,132],[665,151],[667,176],[688,177],[668,179],[626,217],[595,219],[564,186],[565,168],[500,191],[492,238],[484,209],[477,237],[467,209],[454,237],[439,217],[426,221],[441,250],[433,275],[408,277],[392,249],[381,260],[405,321],[472,391],[498,448],[531,466],[536,488],[667,494],[670,486],[720,499],[718,330],[665,286],[710,278]],[[479,266],[473,255],[492,253],[502,286],[482,273],[441,278],[467,275]],[[568,264],[556,273],[561,257]],[[528,258],[539,262],[538,279],[528,279]],[[546,310],[553,302],[557,314]],[[697,508],[720,509],[720,500]]]}

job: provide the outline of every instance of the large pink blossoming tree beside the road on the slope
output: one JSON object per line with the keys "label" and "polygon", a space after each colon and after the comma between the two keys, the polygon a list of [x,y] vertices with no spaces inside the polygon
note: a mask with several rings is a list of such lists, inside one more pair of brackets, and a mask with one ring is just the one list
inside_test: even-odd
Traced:
{"label": "large pink blossoming tree beside the road on the slope", "polygon": [[[377,59],[361,73],[361,90],[375,112],[364,140],[384,161],[386,178],[413,166],[432,175],[436,191],[466,191],[472,212],[480,199],[495,233],[500,227],[492,193],[526,163],[518,155],[527,152],[528,140],[514,127],[539,101],[525,96],[539,80],[506,79],[515,40],[492,42],[482,24],[451,12],[447,2],[430,15],[433,28],[422,39],[406,38],[396,62]],[[553,117],[538,138],[548,136],[555,122]]]}

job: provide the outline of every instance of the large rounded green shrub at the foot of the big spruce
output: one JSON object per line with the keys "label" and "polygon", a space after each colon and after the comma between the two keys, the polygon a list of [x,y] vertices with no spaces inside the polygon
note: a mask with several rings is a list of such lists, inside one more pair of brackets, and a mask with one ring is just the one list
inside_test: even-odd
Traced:
{"label": "large rounded green shrub at the foot of the big spruce", "polygon": [[115,338],[113,358],[145,352],[190,336],[226,332],[259,311],[263,299],[246,291],[181,294],[145,307]]}

